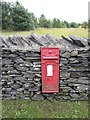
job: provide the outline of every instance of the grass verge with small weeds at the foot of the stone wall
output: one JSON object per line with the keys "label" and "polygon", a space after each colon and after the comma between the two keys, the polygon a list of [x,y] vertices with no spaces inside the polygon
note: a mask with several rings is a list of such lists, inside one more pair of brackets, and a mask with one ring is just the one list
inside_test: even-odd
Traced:
{"label": "grass verge with small weeds at the foot of the stone wall", "polygon": [[3,118],[88,118],[88,101],[3,100]]}

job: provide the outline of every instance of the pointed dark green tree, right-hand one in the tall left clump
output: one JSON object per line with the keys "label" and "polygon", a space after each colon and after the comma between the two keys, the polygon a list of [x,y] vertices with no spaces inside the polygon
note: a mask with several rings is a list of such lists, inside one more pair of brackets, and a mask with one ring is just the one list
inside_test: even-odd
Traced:
{"label": "pointed dark green tree, right-hand one in the tall left clump", "polygon": [[12,20],[14,30],[33,30],[34,29],[34,14],[28,13],[28,11],[20,5],[18,2],[15,3],[12,10]]}

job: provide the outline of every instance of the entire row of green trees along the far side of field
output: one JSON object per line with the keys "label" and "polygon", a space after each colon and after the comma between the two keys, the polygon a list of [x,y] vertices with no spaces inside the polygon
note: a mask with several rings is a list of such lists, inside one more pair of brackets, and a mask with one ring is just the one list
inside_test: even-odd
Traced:
{"label": "entire row of green trees along the far side of field", "polygon": [[[44,14],[37,19],[33,13],[29,13],[19,2],[2,4],[2,30],[7,31],[29,31],[35,28],[78,28],[80,24],[75,22],[68,23],[54,18],[47,19]],[[82,24],[83,28],[87,28],[87,23]]]}

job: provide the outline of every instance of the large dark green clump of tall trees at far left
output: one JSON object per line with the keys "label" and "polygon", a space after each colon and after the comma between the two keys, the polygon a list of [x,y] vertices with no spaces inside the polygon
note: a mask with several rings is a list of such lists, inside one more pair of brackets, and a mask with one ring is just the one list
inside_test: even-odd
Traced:
{"label": "large dark green clump of tall trees at far left", "polygon": [[2,2],[2,29],[3,30],[33,30],[36,18],[29,13],[20,3]]}

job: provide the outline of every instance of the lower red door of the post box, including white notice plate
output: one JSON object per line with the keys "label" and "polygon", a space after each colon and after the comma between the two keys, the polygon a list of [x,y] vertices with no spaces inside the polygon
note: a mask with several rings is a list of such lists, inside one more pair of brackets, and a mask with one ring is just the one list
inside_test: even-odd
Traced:
{"label": "lower red door of the post box, including white notice plate", "polygon": [[44,81],[42,82],[43,92],[57,92],[57,83],[55,78],[56,65],[55,63],[46,62],[43,66],[44,69]]}

